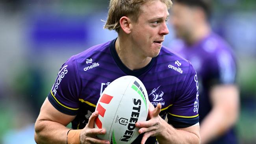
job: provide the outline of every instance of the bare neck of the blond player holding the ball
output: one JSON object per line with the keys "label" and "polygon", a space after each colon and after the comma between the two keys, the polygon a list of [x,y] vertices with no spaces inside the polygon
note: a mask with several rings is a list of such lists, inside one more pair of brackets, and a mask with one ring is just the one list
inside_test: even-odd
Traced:
{"label": "bare neck of the blond player holding the ball", "polygon": [[120,35],[115,42],[115,50],[122,63],[130,70],[138,70],[148,65],[151,61],[151,57],[145,57],[140,54],[139,48],[132,45],[129,38],[123,38]]}

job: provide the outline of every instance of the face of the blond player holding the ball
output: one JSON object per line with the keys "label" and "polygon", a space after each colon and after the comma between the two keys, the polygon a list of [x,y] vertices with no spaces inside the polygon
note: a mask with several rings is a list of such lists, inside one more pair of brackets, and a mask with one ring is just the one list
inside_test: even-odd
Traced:
{"label": "face of the blond player holding the ball", "polygon": [[159,54],[164,36],[169,33],[166,25],[168,16],[167,6],[159,0],[141,6],[141,13],[131,30],[137,53],[143,57],[156,57]]}

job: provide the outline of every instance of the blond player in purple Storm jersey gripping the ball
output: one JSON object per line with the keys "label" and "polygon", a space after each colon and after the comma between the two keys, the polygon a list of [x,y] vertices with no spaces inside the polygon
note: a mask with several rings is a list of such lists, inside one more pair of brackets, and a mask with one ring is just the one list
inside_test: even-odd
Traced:
{"label": "blond player in purple Storm jersey gripping the ball", "polygon": [[[150,103],[150,119],[135,124],[141,135],[134,144],[155,144],[156,138],[161,144],[200,143],[195,69],[162,46],[171,5],[171,0],[110,0],[105,28],[117,31],[117,39],[63,64],[35,123],[37,143],[108,144],[96,137],[106,130],[94,128],[100,117],[95,107],[104,87],[125,75],[139,78],[156,106]],[[72,129],[66,127],[70,122]]]}

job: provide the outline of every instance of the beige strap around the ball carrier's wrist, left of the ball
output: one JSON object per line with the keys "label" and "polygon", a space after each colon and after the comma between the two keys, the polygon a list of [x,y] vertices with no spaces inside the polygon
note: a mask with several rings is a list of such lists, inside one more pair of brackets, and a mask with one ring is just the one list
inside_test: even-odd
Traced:
{"label": "beige strap around the ball carrier's wrist, left of the ball", "polygon": [[71,129],[67,133],[67,144],[81,144],[80,132],[82,129]]}

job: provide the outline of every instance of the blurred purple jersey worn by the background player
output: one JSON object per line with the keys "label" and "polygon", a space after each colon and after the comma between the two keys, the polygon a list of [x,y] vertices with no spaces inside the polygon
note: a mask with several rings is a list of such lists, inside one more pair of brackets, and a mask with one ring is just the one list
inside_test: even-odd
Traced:
{"label": "blurred purple jersey worn by the background player", "polygon": [[[236,79],[236,62],[230,46],[218,35],[211,33],[193,46],[183,41],[176,41],[171,49],[182,55],[195,67],[200,87],[200,122],[211,110],[209,90],[216,84],[234,84]],[[230,129],[216,144],[237,143],[233,129]]]}

